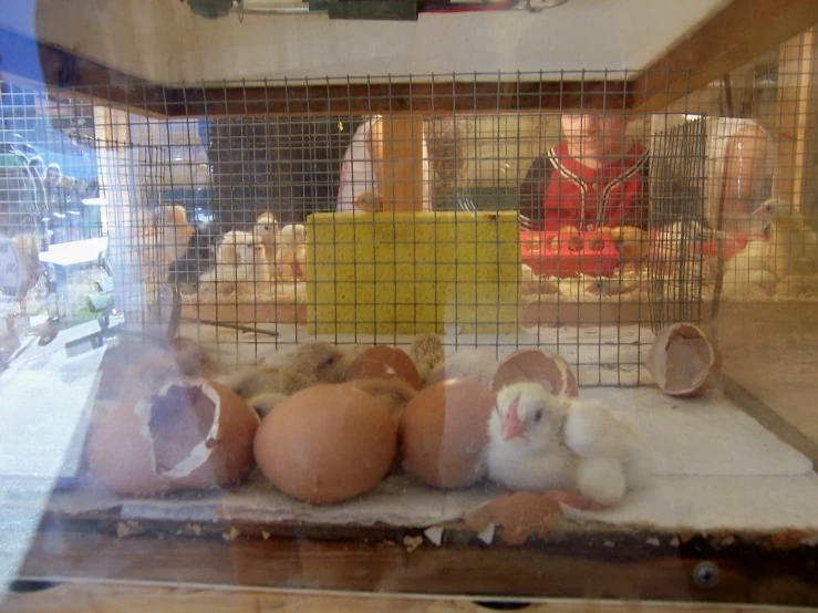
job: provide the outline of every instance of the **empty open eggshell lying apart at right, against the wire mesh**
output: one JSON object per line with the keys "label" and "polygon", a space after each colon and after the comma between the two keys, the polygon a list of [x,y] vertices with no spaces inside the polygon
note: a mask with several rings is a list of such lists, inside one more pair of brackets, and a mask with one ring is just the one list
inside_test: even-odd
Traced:
{"label": "empty open eggshell lying apart at right, against the wire mesh", "polygon": [[674,323],[656,333],[645,362],[660,389],[671,396],[694,396],[721,367],[710,335],[692,323]]}

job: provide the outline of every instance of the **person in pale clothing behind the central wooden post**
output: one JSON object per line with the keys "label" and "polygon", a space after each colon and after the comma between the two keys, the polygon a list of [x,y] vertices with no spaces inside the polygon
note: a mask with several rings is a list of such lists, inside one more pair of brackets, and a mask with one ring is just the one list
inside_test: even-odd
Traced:
{"label": "person in pale clothing behind the central wooden post", "polygon": [[[383,128],[381,115],[375,115],[361,124],[352,136],[352,143],[341,163],[341,185],[338,189],[338,212],[372,210],[370,196],[383,198],[382,164]],[[423,210],[431,210],[429,163],[426,139],[423,141]]]}

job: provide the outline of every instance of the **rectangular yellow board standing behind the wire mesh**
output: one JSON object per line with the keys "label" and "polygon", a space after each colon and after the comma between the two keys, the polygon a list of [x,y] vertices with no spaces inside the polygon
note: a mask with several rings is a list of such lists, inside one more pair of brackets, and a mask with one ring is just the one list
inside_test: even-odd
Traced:
{"label": "rectangular yellow board standing behind the wire mesh", "polygon": [[307,237],[311,333],[518,329],[516,211],[322,212]]}

